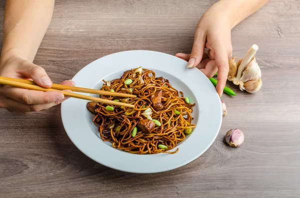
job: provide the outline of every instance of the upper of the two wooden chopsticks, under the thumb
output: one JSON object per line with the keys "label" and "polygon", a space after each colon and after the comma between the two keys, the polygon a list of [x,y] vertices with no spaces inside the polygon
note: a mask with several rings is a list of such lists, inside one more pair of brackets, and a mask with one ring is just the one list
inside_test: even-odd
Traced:
{"label": "upper of the two wooden chopsticks, under the thumb", "polygon": [[[26,84],[30,84],[30,85],[37,85],[31,80],[9,78],[9,77],[3,77],[3,76],[0,76],[0,77],[2,79],[14,81],[14,82],[21,82],[21,83],[26,83]],[[71,90],[71,91],[81,92],[81,93],[93,93],[93,94],[107,95],[107,96],[120,96],[120,97],[126,97],[126,98],[135,98],[136,97],[136,95],[126,94],[126,93],[117,93],[117,92],[103,91],[103,90],[97,90],[97,89],[88,89],[88,88],[82,88],[82,87],[73,87],[73,86],[60,85],[60,84],[53,84],[51,89]]]}

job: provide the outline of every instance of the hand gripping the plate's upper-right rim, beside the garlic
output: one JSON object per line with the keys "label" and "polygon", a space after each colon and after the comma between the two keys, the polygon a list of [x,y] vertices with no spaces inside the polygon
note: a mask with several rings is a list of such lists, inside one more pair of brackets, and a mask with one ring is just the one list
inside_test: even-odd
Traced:
{"label": "hand gripping the plate's upper-right rim, beside the garlic", "polygon": [[[175,56],[188,61],[187,68],[197,67],[208,78],[218,72],[216,90],[221,96],[229,71],[228,59],[232,56],[231,22],[216,4],[199,20],[191,54],[177,53]],[[209,49],[207,54],[204,47]]]}

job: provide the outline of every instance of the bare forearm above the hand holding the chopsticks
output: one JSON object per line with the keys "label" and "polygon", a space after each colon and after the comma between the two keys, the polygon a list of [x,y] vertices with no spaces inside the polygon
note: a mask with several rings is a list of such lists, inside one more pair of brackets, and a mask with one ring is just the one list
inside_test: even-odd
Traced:
{"label": "bare forearm above the hand holding the chopsticks", "polygon": [[33,61],[53,6],[54,0],[6,0],[1,61],[11,56]]}

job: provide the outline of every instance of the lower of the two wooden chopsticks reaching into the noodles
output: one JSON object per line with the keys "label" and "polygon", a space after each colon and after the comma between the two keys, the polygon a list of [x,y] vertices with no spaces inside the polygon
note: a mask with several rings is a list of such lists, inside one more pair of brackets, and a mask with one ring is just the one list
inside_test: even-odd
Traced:
{"label": "lower of the two wooden chopsticks reaching into the noodles", "polygon": [[[23,89],[32,89],[32,90],[37,90],[37,91],[59,91],[59,92],[63,93],[63,95],[72,97],[72,98],[78,98],[78,99],[84,99],[84,100],[89,100],[89,101],[101,102],[101,103],[110,104],[110,105],[134,108],[134,105],[127,104],[127,103],[116,102],[116,101],[106,100],[106,99],[92,97],[92,96],[85,96],[85,95],[81,95],[81,94],[70,93],[70,92],[52,89],[52,88],[47,89],[47,88],[40,87],[38,85],[32,85],[32,84],[26,84],[26,83],[22,83],[22,82],[18,82],[18,81],[8,80],[6,77],[2,77],[2,76],[0,76],[0,84],[23,88]],[[113,94],[113,95],[115,95],[115,94]]]}

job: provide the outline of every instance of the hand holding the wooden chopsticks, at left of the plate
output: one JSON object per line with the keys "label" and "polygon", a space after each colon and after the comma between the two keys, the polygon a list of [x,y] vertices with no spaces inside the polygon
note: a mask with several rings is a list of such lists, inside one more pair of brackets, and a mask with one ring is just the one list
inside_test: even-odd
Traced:
{"label": "hand holding the wooden chopsticks, at left of the plate", "polygon": [[[5,61],[2,60],[0,63],[0,76],[32,79],[37,85],[44,88],[52,86],[52,81],[42,67],[19,57],[10,57]],[[71,80],[63,81],[61,84],[75,85]],[[58,91],[43,92],[0,85],[0,108],[5,108],[9,112],[41,111],[60,104],[66,99],[67,97],[64,97]]]}

